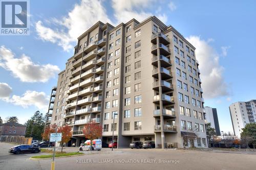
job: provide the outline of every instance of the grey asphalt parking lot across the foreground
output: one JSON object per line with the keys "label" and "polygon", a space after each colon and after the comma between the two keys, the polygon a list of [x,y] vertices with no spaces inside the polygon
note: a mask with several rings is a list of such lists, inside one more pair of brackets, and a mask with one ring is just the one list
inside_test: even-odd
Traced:
{"label": "grey asphalt parking lot across the foreground", "polygon": [[[39,154],[12,155],[8,153],[11,145],[0,143],[0,169],[50,169],[51,159],[30,160]],[[67,149],[68,150],[68,149]],[[69,149],[76,150],[76,148]],[[84,151],[87,152],[87,151]],[[88,152],[87,152],[88,153]],[[43,154],[43,153],[41,153]],[[255,152],[229,151],[177,151],[109,149],[94,151],[93,155],[55,159],[55,169],[255,169]]]}

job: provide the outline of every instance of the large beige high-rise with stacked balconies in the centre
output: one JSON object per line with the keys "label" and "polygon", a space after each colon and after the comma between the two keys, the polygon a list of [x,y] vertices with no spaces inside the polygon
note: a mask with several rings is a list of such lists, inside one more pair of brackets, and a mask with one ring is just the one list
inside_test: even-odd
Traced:
{"label": "large beige high-rise with stacked balconies in the centre", "polygon": [[78,37],[60,72],[51,124],[69,125],[71,143],[99,123],[102,140],[118,147],[155,141],[157,148],[207,147],[195,47],[157,17],[114,27],[98,21]]}

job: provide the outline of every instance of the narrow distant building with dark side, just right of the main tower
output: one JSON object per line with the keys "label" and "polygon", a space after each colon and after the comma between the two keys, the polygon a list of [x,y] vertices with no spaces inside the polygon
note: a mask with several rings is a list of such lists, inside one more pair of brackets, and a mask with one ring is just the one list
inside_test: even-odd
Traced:
{"label": "narrow distant building with dark side, just right of the main tower", "polygon": [[219,119],[218,119],[218,114],[217,114],[217,109],[216,108],[211,108],[208,106],[204,107],[205,109],[205,119],[207,123],[210,123],[211,128],[215,129],[216,135],[220,136],[221,131],[220,131],[220,126],[219,126]]}

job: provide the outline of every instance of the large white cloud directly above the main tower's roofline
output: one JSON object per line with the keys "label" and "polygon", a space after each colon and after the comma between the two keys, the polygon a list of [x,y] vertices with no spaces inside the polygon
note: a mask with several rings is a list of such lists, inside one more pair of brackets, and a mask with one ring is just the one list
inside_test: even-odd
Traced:
{"label": "large white cloud directly above the main tower's roofline", "polygon": [[49,25],[58,28],[46,26],[47,21],[37,21],[35,28],[37,35],[44,41],[56,43],[63,50],[69,51],[73,47],[78,36],[92,27],[97,21],[109,22],[118,25],[120,22],[127,22],[132,18],[142,21],[147,17],[156,15],[163,22],[167,21],[167,16],[157,10],[155,14],[146,12],[148,8],[155,9],[155,0],[112,0],[111,5],[116,21],[110,20],[103,7],[102,0],[81,0],[75,4],[74,8],[62,18],[50,18]]}

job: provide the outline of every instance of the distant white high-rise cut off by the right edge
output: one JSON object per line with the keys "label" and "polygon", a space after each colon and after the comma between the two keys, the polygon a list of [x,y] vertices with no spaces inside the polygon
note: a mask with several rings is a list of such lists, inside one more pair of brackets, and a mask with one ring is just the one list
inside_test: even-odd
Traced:
{"label": "distant white high-rise cut off by the right edge", "polygon": [[256,122],[256,100],[236,102],[229,106],[234,135],[241,137],[242,128],[248,123]]}

